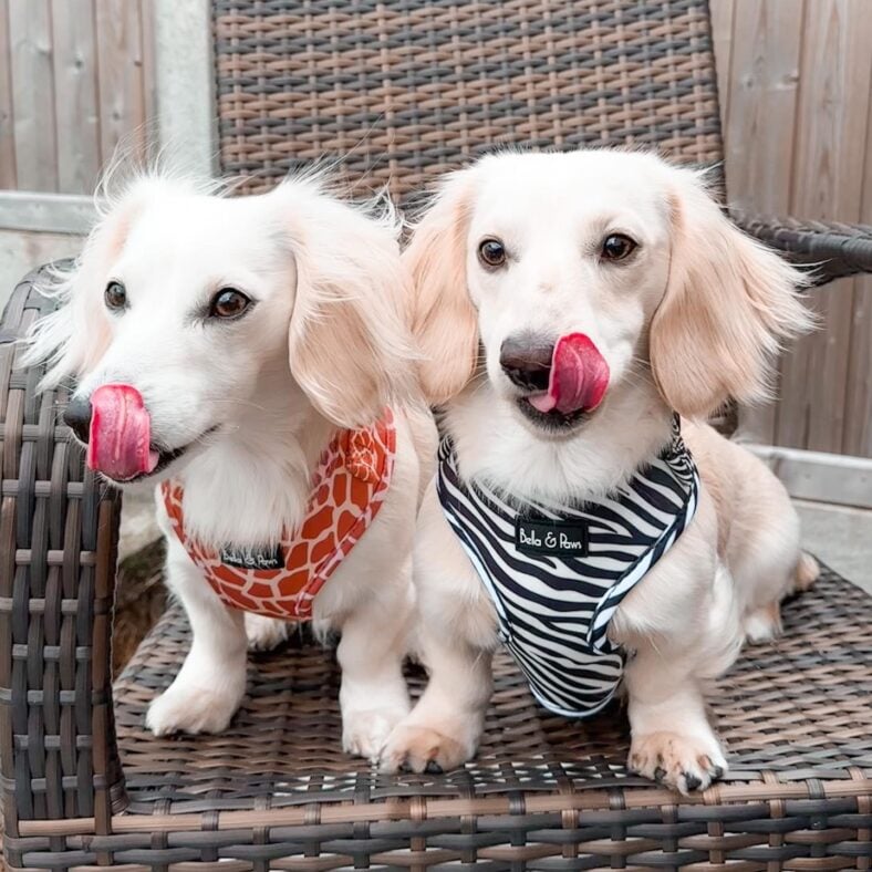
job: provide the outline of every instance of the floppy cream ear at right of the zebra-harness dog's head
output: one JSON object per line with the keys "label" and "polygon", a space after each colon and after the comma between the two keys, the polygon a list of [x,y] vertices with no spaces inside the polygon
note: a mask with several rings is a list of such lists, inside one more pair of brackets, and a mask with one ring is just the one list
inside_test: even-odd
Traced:
{"label": "floppy cream ear at right of the zebra-harness dog's head", "polygon": [[654,378],[687,416],[704,416],[729,397],[765,399],[782,342],[813,325],[797,295],[808,282],[722,214],[702,174],[669,173],[672,261],[651,324]]}

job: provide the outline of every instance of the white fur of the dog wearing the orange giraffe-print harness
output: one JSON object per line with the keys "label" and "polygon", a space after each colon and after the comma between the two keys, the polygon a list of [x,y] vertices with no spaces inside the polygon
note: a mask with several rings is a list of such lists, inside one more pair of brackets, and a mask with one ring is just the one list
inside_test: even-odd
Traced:
{"label": "white fur of the dog wearing the orange giraffe-print harness", "polygon": [[[341,427],[394,409],[392,486],[372,527],[315,599],[316,632],[339,630],[346,749],[375,758],[408,709],[401,665],[413,603],[411,553],[429,415],[415,397],[404,323],[405,280],[393,216],[377,219],[314,180],[229,198],[163,177],[115,198],[76,268],[62,307],[37,326],[29,360],[50,360],[89,396],[126,383],[144,397],[152,438],[191,447],[164,473],[185,488],[187,530],[205,544],[276,541],[303,517],[311,471]],[[103,292],[124,282],[129,309]],[[242,319],[204,318],[231,286],[257,300]],[[148,710],[156,734],[219,731],[246,686],[246,647],[287,627],[222,605],[168,529],[168,585],[194,630],[191,651]]]}

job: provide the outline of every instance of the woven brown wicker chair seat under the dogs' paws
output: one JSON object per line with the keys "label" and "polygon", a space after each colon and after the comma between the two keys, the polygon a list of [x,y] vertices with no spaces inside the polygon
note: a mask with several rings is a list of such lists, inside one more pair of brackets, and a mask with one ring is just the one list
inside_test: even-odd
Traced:
{"label": "woven brown wicker chair seat under the dogs' paws", "polygon": [[[620,705],[590,722],[550,715],[502,654],[484,745],[443,776],[386,777],[342,752],[334,655],[304,633],[252,656],[248,694],[226,733],[155,738],[146,707],[189,644],[174,608],[115,687],[129,799],[116,819],[154,818],[150,832],[137,840],[141,827],[131,826],[125,845],[113,845],[115,862],[708,869],[744,860],[736,868],[762,869],[817,858],[796,868],[866,868],[871,605],[827,569],[786,605],[783,636],[747,648],[710,697],[731,768],[693,798],[627,771]],[[421,672],[411,681],[418,693]]]}

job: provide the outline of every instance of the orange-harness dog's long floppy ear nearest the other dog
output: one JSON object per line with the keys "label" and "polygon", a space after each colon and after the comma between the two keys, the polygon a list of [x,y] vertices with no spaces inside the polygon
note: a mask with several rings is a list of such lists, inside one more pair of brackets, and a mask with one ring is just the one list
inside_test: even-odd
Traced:
{"label": "orange-harness dog's long floppy ear nearest the other dog", "polygon": [[316,183],[272,195],[290,220],[297,293],[288,335],[291,373],[341,427],[372,424],[411,396],[407,288],[394,216],[376,219]]}

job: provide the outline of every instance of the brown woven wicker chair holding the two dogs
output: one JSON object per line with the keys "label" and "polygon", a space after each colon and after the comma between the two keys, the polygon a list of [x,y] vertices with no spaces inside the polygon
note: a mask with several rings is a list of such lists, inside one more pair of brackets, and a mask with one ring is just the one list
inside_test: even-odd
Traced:
{"label": "brown woven wicker chair holding the two dogs", "polygon": [[[214,17],[220,162],[246,190],[323,155],[403,201],[506,144],[722,158],[704,0],[216,0]],[[822,261],[820,283],[872,271],[870,228],[737,218]],[[689,799],[625,769],[623,713],[550,716],[505,657],[485,746],[445,776],[342,755],[333,656],[301,641],[255,658],[224,735],[150,736],[187,629],[170,610],[111,686],[121,500],[56,425],[64,393],[14,368],[11,341],[50,305],[32,282],[0,346],[10,869],[870,869],[870,600],[830,571],[724,681],[733,768]]]}

